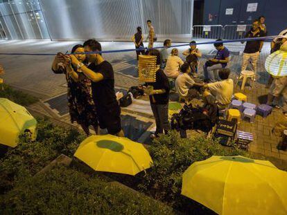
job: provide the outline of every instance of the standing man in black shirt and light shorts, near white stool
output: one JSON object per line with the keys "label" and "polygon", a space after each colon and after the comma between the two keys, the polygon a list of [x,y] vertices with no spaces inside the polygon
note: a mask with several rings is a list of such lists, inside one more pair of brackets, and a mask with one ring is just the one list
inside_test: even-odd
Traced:
{"label": "standing man in black shirt and light shorts, near white stool", "polygon": [[[264,35],[265,32],[261,30],[259,21],[255,20],[253,21],[252,28],[250,29],[250,31],[246,32],[245,38],[264,37]],[[243,51],[243,61],[241,71],[246,70],[248,62],[251,60],[252,71],[256,73],[257,61],[259,59],[262,46],[263,46],[262,40],[247,41],[245,49]]]}

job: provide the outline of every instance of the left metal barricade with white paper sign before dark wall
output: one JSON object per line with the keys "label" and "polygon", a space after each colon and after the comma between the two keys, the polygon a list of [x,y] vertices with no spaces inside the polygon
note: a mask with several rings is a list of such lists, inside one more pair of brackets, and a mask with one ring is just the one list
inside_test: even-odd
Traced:
{"label": "left metal barricade with white paper sign before dark wall", "polygon": [[218,39],[223,34],[221,25],[196,25],[192,27],[192,37],[195,39]]}

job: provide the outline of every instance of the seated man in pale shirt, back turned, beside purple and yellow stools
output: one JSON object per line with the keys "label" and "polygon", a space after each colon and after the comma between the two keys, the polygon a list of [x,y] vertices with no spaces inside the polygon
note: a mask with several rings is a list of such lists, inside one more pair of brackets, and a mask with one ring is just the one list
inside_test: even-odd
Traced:
{"label": "seated man in pale shirt, back turned, beside purple and yellow stools", "polygon": [[204,86],[205,102],[208,104],[217,104],[218,109],[225,109],[232,100],[234,83],[228,79],[230,74],[229,68],[222,68],[219,71],[219,77],[222,81],[206,84]]}

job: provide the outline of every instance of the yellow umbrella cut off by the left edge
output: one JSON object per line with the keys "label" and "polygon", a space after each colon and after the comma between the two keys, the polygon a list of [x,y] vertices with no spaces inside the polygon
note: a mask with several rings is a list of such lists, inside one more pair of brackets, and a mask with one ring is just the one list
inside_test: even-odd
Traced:
{"label": "yellow umbrella cut off by the left edge", "polygon": [[36,139],[37,121],[19,104],[6,98],[0,98],[0,144],[16,147],[19,135],[31,132],[32,140]]}

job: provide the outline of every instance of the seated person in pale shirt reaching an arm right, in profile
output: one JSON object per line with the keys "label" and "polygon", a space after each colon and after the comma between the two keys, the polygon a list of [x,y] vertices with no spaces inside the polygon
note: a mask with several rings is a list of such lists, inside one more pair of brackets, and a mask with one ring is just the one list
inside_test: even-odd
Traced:
{"label": "seated person in pale shirt reaching an arm right, in profile", "polygon": [[187,100],[191,100],[194,97],[194,87],[202,87],[205,86],[204,83],[195,83],[191,78],[189,73],[191,72],[191,67],[189,63],[185,62],[180,67],[180,71],[182,74],[178,75],[175,80],[175,88],[180,97],[186,98]]}

